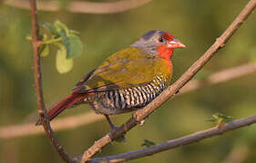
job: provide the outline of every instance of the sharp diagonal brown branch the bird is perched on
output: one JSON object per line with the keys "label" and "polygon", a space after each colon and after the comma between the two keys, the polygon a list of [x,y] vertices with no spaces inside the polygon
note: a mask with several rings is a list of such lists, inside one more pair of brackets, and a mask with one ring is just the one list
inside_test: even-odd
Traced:
{"label": "sharp diagonal brown branch the bird is perched on", "polygon": [[189,70],[179,78],[179,80],[169,86],[168,89],[163,91],[158,98],[150,102],[146,107],[141,110],[134,112],[133,117],[125,122],[119,129],[111,130],[107,135],[98,139],[87,151],[84,152],[81,162],[87,162],[94,155],[97,154],[101,149],[108,145],[112,140],[118,139],[120,136],[126,134],[129,129],[134,128],[141,120],[144,120],[152,112],[157,110],[159,106],[168,101],[169,98],[173,97],[176,92],[179,91],[189,80],[200,71],[200,69],[210,61],[210,58],[217,53],[220,48],[224,47],[225,43],[230,39],[231,35],[234,34],[241,24],[247,19],[249,14],[254,10],[256,6],[256,0],[251,0],[241,11],[236,19],[230,24],[226,31],[216,39],[215,43],[210,46],[210,49],[204,53],[200,59],[193,63],[189,67]]}

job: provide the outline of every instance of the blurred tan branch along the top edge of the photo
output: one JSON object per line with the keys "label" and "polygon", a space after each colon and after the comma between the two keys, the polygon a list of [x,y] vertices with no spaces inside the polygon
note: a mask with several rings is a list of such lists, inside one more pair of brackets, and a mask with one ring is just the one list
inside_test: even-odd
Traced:
{"label": "blurred tan branch along the top edge of the photo", "polygon": [[[67,7],[59,4],[58,1],[41,2],[39,10],[55,12],[60,9],[66,9],[72,13],[88,13],[88,14],[114,14],[121,13],[141,5],[146,5],[151,0],[122,0],[112,3],[93,3],[93,2],[70,2]],[[5,5],[10,5],[20,9],[29,9],[27,0],[4,0]]]}

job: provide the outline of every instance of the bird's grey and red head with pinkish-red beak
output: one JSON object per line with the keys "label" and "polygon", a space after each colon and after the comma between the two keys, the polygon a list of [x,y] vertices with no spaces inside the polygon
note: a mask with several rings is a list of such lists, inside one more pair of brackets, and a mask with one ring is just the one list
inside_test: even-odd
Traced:
{"label": "bird's grey and red head with pinkish-red beak", "polygon": [[138,39],[131,47],[146,51],[150,55],[169,60],[176,48],[184,48],[173,35],[164,31],[149,31]]}

